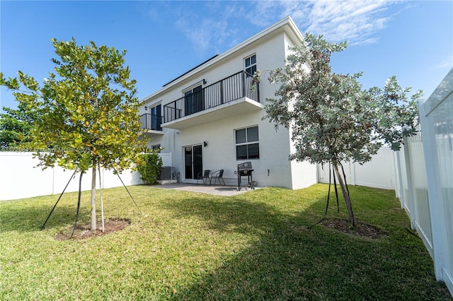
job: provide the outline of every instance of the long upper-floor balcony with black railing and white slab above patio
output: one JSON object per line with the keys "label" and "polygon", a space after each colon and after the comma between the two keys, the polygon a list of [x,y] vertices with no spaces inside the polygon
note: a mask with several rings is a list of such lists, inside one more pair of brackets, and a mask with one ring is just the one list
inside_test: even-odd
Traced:
{"label": "long upper-floor balcony with black railing and white slab above patio", "polygon": [[183,98],[164,105],[163,127],[186,129],[219,119],[263,110],[260,104],[259,84],[251,91],[252,76],[240,71],[208,85]]}

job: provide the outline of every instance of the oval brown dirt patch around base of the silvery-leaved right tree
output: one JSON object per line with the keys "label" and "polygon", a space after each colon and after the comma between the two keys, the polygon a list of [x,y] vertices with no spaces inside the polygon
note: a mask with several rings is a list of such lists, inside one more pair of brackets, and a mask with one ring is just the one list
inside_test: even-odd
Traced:
{"label": "oval brown dirt patch around base of the silvery-leaved right tree", "polygon": [[355,227],[352,227],[349,220],[343,220],[340,218],[326,219],[321,222],[321,225],[326,226],[346,234],[355,235],[359,237],[367,237],[372,240],[377,240],[380,237],[386,236],[386,232],[369,225],[367,223],[355,222]]}

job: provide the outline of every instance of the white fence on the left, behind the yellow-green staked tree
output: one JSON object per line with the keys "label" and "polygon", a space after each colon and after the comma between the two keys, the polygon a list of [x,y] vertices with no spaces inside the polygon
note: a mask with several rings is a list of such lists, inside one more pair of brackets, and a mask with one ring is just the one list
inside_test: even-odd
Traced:
{"label": "white fence on the left, behind the yellow-green staked tree", "polygon": [[[159,155],[163,165],[172,164],[171,153]],[[61,194],[74,171],[64,171],[62,167],[41,170],[40,167],[35,167],[38,163],[38,158],[33,158],[32,153],[0,153],[0,201]],[[79,190],[79,175],[76,174],[76,179],[71,180],[67,192]],[[122,186],[120,178],[110,170],[101,169],[101,177],[104,188]],[[125,170],[120,177],[125,185],[143,184],[139,172]],[[96,179],[96,185],[98,184],[99,179]],[[91,189],[91,170],[82,177],[81,188]]]}

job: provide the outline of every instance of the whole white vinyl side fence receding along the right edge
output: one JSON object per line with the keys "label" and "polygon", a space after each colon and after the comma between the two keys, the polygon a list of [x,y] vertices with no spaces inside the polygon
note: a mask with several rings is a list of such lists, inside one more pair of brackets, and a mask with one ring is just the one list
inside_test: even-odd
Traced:
{"label": "whole white vinyl side fence receding along the right edge", "polygon": [[396,153],[396,195],[453,293],[453,69],[419,104],[421,133]]}

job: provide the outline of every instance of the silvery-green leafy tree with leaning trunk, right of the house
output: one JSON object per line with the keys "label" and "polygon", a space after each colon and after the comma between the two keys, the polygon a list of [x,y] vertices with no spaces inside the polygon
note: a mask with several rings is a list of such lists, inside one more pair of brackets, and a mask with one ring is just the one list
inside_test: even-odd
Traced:
{"label": "silvery-green leafy tree with leaning trunk, right of the house", "polygon": [[[355,216],[341,172],[341,162],[363,164],[383,144],[398,150],[403,138],[417,131],[418,91],[408,100],[410,88],[402,89],[395,77],[384,88],[363,90],[362,73],[339,74],[331,68],[331,54],[346,42],[333,44],[322,36],[305,35],[306,45],[291,47],[285,68],[270,71],[270,83],[280,83],[277,98],[267,98],[265,116],[270,122],[290,129],[295,153],[291,160],[331,163],[345,199],[350,223]],[[260,73],[256,74],[259,81]]]}

